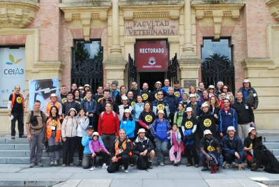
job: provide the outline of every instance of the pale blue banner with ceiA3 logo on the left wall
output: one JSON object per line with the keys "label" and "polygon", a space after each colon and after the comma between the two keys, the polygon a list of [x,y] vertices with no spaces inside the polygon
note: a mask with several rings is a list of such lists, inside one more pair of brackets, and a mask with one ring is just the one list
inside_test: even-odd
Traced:
{"label": "pale blue banner with ceiA3 logo on the left wall", "polygon": [[7,107],[15,85],[20,85],[20,93],[25,96],[25,47],[0,48],[0,64],[0,107]]}

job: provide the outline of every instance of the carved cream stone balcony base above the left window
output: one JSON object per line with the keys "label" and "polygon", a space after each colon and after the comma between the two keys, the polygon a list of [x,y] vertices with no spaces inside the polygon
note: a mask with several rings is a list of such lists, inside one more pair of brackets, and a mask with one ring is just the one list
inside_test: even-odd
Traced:
{"label": "carved cream stone balcony base above the left window", "polygon": [[[107,20],[107,11],[112,8],[111,3],[103,3],[103,6],[87,6],[79,7],[71,3],[60,3],[59,7],[64,12],[66,22],[70,22],[73,27],[80,27],[82,24],[84,40],[89,41],[90,29],[104,28]],[[79,20],[79,21],[77,21]],[[74,22],[72,24],[72,22]]]}

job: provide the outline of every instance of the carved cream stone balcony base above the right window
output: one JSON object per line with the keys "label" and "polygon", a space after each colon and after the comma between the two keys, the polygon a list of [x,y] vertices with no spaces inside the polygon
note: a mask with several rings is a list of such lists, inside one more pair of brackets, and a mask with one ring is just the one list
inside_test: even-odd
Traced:
{"label": "carved cream stone balcony base above the right window", "polygon": [[[279,0],[278,0],[279,1]],[[199,27],[214,27],[214,39],[220,38],[221,27],[234,26],[244,3],[192,4],[196,10]]]}

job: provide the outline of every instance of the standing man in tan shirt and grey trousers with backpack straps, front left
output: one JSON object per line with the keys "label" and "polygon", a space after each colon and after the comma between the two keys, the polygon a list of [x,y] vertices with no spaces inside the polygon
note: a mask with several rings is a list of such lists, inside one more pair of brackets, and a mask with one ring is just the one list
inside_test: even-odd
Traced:
{"label": "standing man in tan shirt and grey trousers with backpack straps, front left", "polygon": [[[26,119],[27,138],[30,145],[30,167],[42,167],[43,139],[45,137],[45,113],[40,111],[40,100],[36,100],[33,111],[29,111]],[[37,148],[37,150],[36,150]]]}

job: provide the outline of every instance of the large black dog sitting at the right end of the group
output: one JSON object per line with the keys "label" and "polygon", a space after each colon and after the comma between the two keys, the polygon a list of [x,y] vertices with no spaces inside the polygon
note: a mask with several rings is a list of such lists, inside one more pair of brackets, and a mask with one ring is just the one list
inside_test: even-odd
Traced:
{"label": "large black dog sitting at the right end of the group", "polygon": [[279,174],[279,161],[269,149],[266,149],[262,143],[261,136],[255,137],[252,140],[252,149],[254,151],[254,158],[256,159],[256,166],[251,171],[256,171],[259,165],[264,165],[264,171]]}

